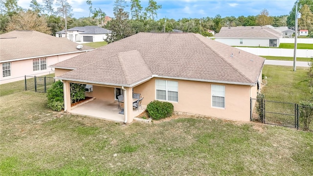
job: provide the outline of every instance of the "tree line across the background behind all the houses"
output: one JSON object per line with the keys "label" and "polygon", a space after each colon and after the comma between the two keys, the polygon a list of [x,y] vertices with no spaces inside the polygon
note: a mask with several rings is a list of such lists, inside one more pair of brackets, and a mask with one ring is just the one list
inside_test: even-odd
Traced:
{"label": "tree line across the background behind all the houses", "polygon": [[[299,29],[308,29],[313,35],[313,0],[298,0]],[[218,33],[223,26],[255,26],[272,25],[294,27],[295,5],[289,15],[270,16],[267,9],[263,9],[256,16],[181,18],[179,20],[162,18],[157,20],[157,11],[162,8],[155,0],[149,0],[147,7],[143,7],[140,0],[115,0],[114,17],[105,23],[105,9],[86,1],[89,17],[74,18],[71,5],[67,0],[31,0],[28,9],[18,5],[18,0],[0,0],[0,33],[12,30],[36,30],[55,35],[55,32],[75,26],[98,25],[113,31],[108,42],[116,41],[138,32],[172,32],[173,29],[184,32],[201,33],[211,36],[208,30]],[[125,11],[130,6],[130,12]],[[53,7],[57,7],[54,9]]]}

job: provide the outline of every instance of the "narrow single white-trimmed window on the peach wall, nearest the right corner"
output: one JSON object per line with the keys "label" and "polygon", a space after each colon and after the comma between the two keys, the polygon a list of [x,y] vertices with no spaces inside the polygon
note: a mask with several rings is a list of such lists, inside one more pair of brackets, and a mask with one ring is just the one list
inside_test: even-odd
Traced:
{"label": "narrow single white-trimmed window on the peach wall, nearest the right corner", "polygon": [[225,86],[212,85],[212,107],[225,108]]}

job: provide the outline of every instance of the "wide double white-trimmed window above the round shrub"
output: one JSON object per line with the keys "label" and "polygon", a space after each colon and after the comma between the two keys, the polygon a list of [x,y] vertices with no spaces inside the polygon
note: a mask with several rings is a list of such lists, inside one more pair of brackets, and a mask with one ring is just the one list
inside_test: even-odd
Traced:
{"label": "wide double white-trimmed window above the round shrub", "polygon": [[156,99],[178,102],[178,82],[157,79]]}

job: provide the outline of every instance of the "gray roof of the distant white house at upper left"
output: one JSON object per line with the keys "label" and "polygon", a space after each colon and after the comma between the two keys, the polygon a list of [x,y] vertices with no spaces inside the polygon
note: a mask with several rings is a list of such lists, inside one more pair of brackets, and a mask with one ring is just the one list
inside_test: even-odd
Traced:
{"label": "gray roof of the distant white house at upper left", "polygon": [[[98,26],[72,27],[67,31],[78,31],[80,34],[112,34],[112,31]],[[56,34],[65,34],[65,30],[58,31]]]}

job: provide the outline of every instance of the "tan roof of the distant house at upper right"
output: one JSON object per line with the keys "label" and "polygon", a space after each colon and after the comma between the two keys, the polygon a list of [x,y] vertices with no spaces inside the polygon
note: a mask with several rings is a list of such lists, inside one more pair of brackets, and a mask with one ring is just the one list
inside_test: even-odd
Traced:
{"label": "tan roof of the distant house at upper right", "polygon": [[282,33],[268,26],[222,27],[220,32],[215,34],[215,38],[278,39],[282,38]]}

